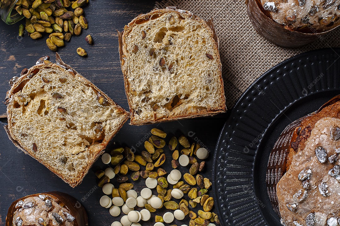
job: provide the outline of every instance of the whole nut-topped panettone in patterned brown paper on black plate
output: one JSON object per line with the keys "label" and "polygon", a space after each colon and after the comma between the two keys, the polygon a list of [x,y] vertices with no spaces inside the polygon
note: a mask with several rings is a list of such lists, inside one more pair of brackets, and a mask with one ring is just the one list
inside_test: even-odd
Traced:
{"label": "whole nut-topped panettone in patterned brown paper on black plate", "polygon": [[339,153],[340,96],[286,127],[267,170],[268,194],[282,224],[340,222]]}

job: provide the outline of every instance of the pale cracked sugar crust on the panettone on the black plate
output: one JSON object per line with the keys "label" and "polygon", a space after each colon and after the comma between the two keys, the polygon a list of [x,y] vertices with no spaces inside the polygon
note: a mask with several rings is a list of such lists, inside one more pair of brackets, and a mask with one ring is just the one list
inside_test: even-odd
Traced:
{"label": "pale cracked sugar crust on the panettone on the black plate", "polygon": [[[328,175],[328,171],[339,163],[336,161],[331,164],[328,160],[320,163],[315,153],[318,146],[326,150],[327,157],[337,153],[340,141],[331,139],[331,129],[335,126],[340,127],[340,119],[325,117],[318,120],[305,142],[305,148],[293,155],[289,170],[277,183],[280,214],[287,226],[295,225],[294,221],[306,225],[307,216],[311,212],[315,214],[315,225],[326,225],[329,218],[340,216],[340,183]],[[307,197],[301,201],[294,200],[294,194],[299,194],[303,189],[298,175],[306,168],[311,170]],[[294,203],[297,204],[296,209],[290,211],[286,205]]]}

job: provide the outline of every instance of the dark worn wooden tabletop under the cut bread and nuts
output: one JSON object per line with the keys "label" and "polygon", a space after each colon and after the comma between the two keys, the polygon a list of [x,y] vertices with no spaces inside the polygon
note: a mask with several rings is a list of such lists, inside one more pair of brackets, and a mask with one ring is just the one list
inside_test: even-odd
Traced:
{"label": "dark worn wooden tabletop under the cut bread and nuts", "polygon": [[[72,36],[71,41],[58,50],[67,64],[92,81],[126,110],[129,106],[120,70],[117,30],[123,30],[124,25],[138,14],[149,12],[154,4],[155,1],[146,0],[90,0],[89,5],[84,9],[89,21],[89,29],[83,31],[80,36]],[[50,55],[52,61],[55,59],[54,52],[50,51],[45,44],[46,37],[39,40],[32,40],[27,35],[22,39],[18,38],[18,26],[19,24],[6,25],[0,21],[0,99],[2,100],[10,88],[8,84],[10,78],[18,76],[23,68],[34,65],[41,56]],[[94,45],[90,46],[85,42],[87,34],[93,37]],[[87,51],[88,57],[77,55],[76,49],[79,46]],[[120,219],[122,214],[115,218],[109,214],[108,209],[99,205],[99,199],[104,193],[97,186],[95,171],[98,168],[105,169],[107,166],[98,160],[83,183],[72,189],[45,166],[15,148],[2,129],[6,123],[6,106],[3,104],[0,104],[0,115],[0,226],[5,225],[7,210],[13,201],[25,195],[46,191],[62,191],[77,198],[87,210],[90,225],[109,226],[113,221]],[[211,178],[212,155],[226,120],[225,117],[225,114],[222,114],[139,127],[126,123],[107,150],[121,145],[133,146],[137,152],[140,152],[143,150],[143,145],[140,144],[143,143],[143,139],[150,136],[149,131],[154,127],[168,132],[168,139],[171,135],[184,134],[191,142],[200,142],[211,151],[206,170],[202,173]],[[168,159],[171,159],[171,153],[169,151],[165,153]],[[167,165],[165,169],[170,171],[171,166]],[[182,169],[188,171],[189,168]],[[143,183],[144,179],[139,180],[135,183],[135,189],[140,191],[145,185]],[[118,185],[116,181],[114,184]],[[157,214],[163,215],[164,212],[162,210]],[[154,219],[142,225],[153,225],[152,222]],[[179,226],[188,223],[188,216],[181,222],[173,222]]]}

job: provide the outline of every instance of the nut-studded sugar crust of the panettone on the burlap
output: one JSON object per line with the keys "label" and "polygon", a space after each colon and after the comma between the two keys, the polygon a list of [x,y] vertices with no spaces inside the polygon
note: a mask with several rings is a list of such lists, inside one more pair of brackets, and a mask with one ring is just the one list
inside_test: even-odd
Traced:
{"label": "nut-studded sugar crust of the panettone on the burlap", "polygon": [[340,24],[340,0],[261,0],[261,3],[275,22],[291,30],[316,33]]}

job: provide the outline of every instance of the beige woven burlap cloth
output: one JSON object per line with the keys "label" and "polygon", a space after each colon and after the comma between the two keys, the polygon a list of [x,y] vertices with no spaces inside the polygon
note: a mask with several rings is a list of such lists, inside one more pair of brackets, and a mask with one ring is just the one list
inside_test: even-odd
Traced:
{"label": "beige woven burlap cloth", "polygon": [[251,24],[243,0],[163,0],[157,8],[177,6],[204,20],[213,18],[220,41],[226,105],[277,63],[314,49],[340,46],[339,28],[301,48],[282,48],[263,39]]}

